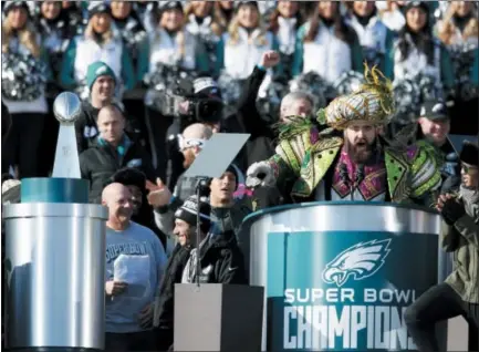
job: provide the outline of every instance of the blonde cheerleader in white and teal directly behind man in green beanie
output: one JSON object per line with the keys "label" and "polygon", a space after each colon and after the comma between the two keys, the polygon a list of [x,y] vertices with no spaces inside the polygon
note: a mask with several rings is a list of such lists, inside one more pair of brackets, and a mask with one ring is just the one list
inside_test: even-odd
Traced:
{"label": "blonde cheerleader in white and teal directly behind man in green beanie", "polygon": [[90,64],[103,61],[115,72],[118,84],[117,96],[135,86],[132,59],[123,42],[114,37],[112,15],[103,1],[88,3],[88,24],[83,35],[69,45],[63,59],[60,82],[64,89],[79,87],[82,99],[88,97],[86,71]]}

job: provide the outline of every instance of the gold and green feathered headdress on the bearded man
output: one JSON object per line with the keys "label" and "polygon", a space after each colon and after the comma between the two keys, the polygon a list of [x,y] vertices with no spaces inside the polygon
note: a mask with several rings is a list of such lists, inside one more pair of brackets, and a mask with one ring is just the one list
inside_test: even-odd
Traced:
{"label": "gold and green feathered headdress on the bearded man", "polygon": [[389,80],[365,64],[364,83],[356,92],[336,97],[317,112],[317,121],[334,130],[345,130],[351,123],[365,121],[385,125],[394,113],[393,87]]}

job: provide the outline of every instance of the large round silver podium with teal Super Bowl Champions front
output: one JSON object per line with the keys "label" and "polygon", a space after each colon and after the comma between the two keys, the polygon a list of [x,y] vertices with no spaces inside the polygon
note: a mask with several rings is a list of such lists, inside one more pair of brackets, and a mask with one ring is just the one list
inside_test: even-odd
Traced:
{"label": "large round silver podium with teal Super Bowl Champions front", "polygon": [[416,350],[403,314],[445,278],[439,228],[429,209],[386,203],[247,217],[240,246],[250,284],[264,287],[262,351]]}

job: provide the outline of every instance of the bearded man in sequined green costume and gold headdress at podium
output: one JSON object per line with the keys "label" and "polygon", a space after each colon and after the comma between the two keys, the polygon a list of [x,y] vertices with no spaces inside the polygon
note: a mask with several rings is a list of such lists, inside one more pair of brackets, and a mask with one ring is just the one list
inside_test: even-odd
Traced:
{"label": "bearded man in sequined green costume and gold headdress at podium", "polygon": [[[248,169],[249,187],[277,185],[292,201],[364,200],[433,205],[440,172],[418,146],[393,147],[381,131],[394,113],[388,82],[366,68],[366,83],[317,113],[282,126],[275,155]],[[395,138],[397,139],[397,138]]]}

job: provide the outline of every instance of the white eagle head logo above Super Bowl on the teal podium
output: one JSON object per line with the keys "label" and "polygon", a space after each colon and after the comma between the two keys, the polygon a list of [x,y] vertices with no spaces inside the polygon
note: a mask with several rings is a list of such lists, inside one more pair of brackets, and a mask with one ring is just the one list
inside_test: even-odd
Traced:
{"label": "white eagle head logo above Super Bowl on the teal podium", "polygon": [[360,242],[342,251],[329,262],[323,270],[323,280],[326,283],[336,283],[342,287],[352,277],[363,280],[379,270],[389,253],[391,239]]}

